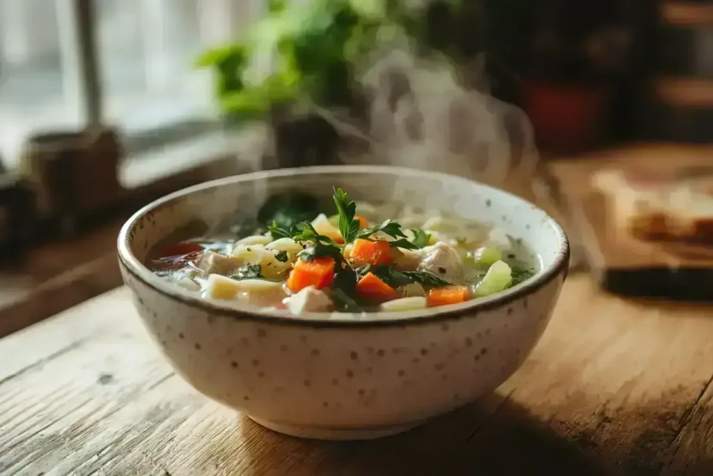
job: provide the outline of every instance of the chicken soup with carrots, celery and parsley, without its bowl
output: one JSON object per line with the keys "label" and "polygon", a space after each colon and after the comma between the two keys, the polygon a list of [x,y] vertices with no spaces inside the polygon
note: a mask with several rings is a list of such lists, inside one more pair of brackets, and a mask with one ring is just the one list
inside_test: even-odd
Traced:
{"label": "chicken soup with carrots, celery and parsley, without its bowl", "polygon": [[169,257],[168,266],[166,254],[160,255],[155,271],[207,298],[294,314],[457,304],[499,293],[535,273],[516,258],[527,255],[520,253],[520,241],[501,229],[423,211],[379,215],[379,208],[357,206],[341,188],[332,201],[334,209],[322,210],[304,194],[272,197],[252,234],[241,229],[232,240],[204,238],[202,250],[190,242],[169,246],[170,254],[190,253]]}

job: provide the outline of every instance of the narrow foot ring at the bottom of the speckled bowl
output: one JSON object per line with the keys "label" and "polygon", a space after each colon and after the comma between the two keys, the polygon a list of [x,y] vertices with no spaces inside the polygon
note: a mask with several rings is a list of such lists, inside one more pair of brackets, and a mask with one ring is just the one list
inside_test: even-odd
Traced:
{"label": "narrow foot ring at the bottom of the speckled bowl", "polygon": [[309,427],[297,426],[284,423],[270,422],[256,417],[250,417],[250,420],[258,425],[266,427],[284,435],[294,436],[298,438],[309,438],[311,440],[373,440],[384,436],[396,435],[415,428],[423,422],[407,423],[405,425],[394,425],[385,427],[366,427],[366,428],[326,428],[326,427]]}

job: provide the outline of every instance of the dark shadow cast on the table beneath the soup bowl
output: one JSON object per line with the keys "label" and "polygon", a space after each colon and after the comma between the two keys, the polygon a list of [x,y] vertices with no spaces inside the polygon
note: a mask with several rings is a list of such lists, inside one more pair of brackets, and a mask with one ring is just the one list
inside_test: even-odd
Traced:
{"label": "dark shadow cast on the table beneath the soup bowl", "polygon": [[[619,474],[602,467],[583,447],[558,436],[520,405],[500,400],[494,413],[484,414],[478,402],[411,432],[366,442],[298,440],[258,429],[248,421],[241,427],[252,438],[261,432],[264,445],[272,448],[270,460],[282,462],[275,474],[290,476]],[[264,467],[264,461],[257,461],[265,459],[258,446],[243,456],[255,457],[256,466]]]}

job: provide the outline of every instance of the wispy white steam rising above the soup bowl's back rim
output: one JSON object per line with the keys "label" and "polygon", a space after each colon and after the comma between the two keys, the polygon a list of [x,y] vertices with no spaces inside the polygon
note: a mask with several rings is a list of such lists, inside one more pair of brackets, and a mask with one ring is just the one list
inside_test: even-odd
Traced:
{"label": "wispy white steam rising above the soup bowl's back rim", "polygon": [[[342,137],[339,161],[471,178],[533,201],[565,221],[557,183],[539,166],[528,117],[490,95],[484,61],[467,68],[471,77],[465,81],[458,76],[463,65],[444,57],[419,58],[408,40],[396,43],[358,65],[366,121],[312,105]],[[271,142],[263,145],[272,148]]]}

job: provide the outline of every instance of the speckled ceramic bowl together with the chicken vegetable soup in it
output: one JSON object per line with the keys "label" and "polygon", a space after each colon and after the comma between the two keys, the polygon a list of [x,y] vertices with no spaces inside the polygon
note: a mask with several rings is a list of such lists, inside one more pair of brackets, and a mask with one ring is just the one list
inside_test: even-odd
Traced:
{"label": "speckled ceramic bowl together with the chicken vegetable soup in it", "polygon": [[188,188],[123,227],[148,332],[201,393],[273,430],[400,432],[503,383],[565,279],[560,226],[440,173],[332,166]]}

